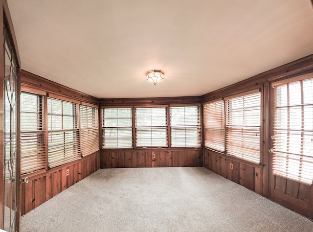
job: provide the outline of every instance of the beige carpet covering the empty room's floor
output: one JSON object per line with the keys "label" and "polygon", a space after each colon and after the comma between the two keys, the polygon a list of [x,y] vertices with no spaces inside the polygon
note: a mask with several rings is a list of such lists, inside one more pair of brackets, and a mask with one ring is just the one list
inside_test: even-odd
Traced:
{"label": "beige carpet covering the empty room's floor", "polygon": [[203,167],[100,169],[22,217],[22,232],[313,232]]}

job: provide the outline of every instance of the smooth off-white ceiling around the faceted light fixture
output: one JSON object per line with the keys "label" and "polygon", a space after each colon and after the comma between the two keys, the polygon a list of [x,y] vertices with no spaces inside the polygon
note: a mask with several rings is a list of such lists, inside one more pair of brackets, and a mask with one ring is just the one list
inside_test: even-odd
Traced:
{"label": "smooth off-white ceiling around the faceted light fixture", "polygon": [[22,69],[98,98],[202,95],[313,53],[311,0],[8,5]]}

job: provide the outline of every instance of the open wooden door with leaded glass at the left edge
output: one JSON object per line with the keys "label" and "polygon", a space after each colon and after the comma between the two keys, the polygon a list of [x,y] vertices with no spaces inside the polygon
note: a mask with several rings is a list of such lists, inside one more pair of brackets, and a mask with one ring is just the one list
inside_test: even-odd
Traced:
{"label": "open wooden door with leaded glass at the left edge", "polygon": [[20,230],[20,59],[6,0],[0,0],[0,228]]}

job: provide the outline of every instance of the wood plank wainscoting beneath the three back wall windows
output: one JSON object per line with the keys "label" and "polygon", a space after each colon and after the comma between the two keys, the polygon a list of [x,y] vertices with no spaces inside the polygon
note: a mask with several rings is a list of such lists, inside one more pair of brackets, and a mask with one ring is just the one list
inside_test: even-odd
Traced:
{"label": "wood plank wainscoting beneath the three back wall windows", "polygon": [[202,166],[202,148],[100,151],[101,168]]}

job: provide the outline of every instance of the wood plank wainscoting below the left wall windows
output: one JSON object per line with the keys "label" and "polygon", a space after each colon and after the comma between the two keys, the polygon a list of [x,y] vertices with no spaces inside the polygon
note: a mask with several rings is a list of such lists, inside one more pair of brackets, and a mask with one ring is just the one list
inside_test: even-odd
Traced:
{"label": "wood plank wainscoting below the left wall windows", "polygon": [[[44,173],[30,176],[21,185],[21,215],[35,209],[68,187],[81,181],[100,168],[99,151]],[[69,174],[67,176],[67,169]]]}

